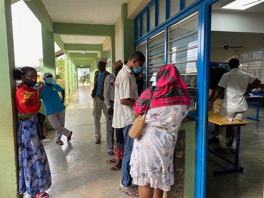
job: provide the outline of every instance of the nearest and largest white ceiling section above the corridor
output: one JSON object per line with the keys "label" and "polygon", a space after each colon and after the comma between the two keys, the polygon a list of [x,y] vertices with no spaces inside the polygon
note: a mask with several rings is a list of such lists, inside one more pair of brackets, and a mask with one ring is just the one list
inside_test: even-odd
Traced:
{"label": "nearest and largest white ceiling section above the corridor", "polygon": [[128,0],[42,0],[53,22],[114,25]]}

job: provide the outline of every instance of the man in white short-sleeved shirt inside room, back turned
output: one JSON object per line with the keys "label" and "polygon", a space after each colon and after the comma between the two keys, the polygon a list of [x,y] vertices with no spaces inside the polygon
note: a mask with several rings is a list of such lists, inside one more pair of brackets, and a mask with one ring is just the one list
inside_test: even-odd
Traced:
{"label": "man in white short-sleeved shirt inside room, back turned", "polygon": [[[208,110],[212,110],[212,104],[224,90],[225,101],[221,114],[241,120],[243,118],[243,114],[248,109],[248,104],[245,96],[248,96],[248,91],[257,88],[261,82],[256,77],[246,72],[240,71],[238,69],[239,60],[237,58],[230,59],[228,64],[231,70],[230,72],[225,73],[219,81],[219,88],[216,90],[213,99],[209,103]],[[248,87],[249,83],[252,84]],[[237,126],[233,126],[233,130],[235,138],[233,140],[233,145],[229,148],[229,150],[232,153],[236,153]],[[213,149],[222,153],[227,153],[226,127],[220,127],[218,131],[220,146],[213,147]]]}

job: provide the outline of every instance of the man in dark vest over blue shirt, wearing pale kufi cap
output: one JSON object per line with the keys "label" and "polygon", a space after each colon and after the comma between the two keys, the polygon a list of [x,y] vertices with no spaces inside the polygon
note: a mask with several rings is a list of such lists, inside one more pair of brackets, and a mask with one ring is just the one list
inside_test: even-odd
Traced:
{"label": "man in dark vest over blue shirt, wearing pale kufi cap", "polygon": [[94,89],[92,91],[92,98],[94,99],[94,128],[95,128],[95,143],[101,143],[101,124],[100,119],[102,110],[106,116],[106,106],[104,104],[104,81],[106,76],[110,73],[106,71],[107,59],[100,57],[98,61],[98,70],[94,73]]}

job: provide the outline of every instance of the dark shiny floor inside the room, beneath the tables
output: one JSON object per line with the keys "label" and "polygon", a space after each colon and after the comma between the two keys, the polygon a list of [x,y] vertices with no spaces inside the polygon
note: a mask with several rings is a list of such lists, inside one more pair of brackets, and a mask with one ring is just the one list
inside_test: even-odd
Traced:
{"label": "dark shiny floor inside the room, beneath the tables", "polygon": [[[213,175],[213,170],[232,168],[232,165],[218,158],[212,153],[207,154],[207,197],[208,198],[263,198],[264,185],[264,108],[259,109],[260,121],[247,119],[256,118],[254,104],[249,105],[243,119],[251,122],[241,126],[241,143],[239,150],[239,166],[244,167],[243,172]],[[208,139],[214,131],[214,124],[209,123]],[[229,140],[227,140],[229,141]],[[210,143],[208,148],[218,146],[219,143]],[[234,161],[235,154],[228,150],[227,154],[221,154]]]}

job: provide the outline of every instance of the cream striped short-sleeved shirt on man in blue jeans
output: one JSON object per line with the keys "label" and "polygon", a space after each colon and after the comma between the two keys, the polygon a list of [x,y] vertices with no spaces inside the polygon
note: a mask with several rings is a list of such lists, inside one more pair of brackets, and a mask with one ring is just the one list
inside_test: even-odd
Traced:
{"label": "cream striped short-sleeved shirt on man in blue jeans", "polygon": [[123,128],[135,121],[133,106],[126,106],[120,103],[121,99],[138,99],[138,87],[136,78],[126,65],[119,71],[116,77],[113,127]]}

